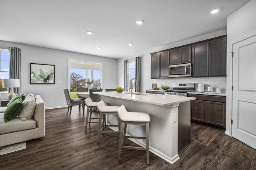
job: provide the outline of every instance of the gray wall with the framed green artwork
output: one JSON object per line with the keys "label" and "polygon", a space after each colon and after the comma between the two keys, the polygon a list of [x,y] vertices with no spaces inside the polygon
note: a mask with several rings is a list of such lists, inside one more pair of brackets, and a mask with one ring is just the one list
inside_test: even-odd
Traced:
{"label": "gray wall with the framed green artwork", "polygon": [[[0,47],[18,47],[21,54],[21,92],[40,94],[46,108],[66,106],[63,89],[67,88],[68,59],[94,61],[102,64],[102,88],[114,88],[117,82],[117,60],[56,49],[48,49],[8,41],[0,41]],[[55,84],[30,84],[30,63],[54,64]],[[57,84],[57,81],[62,84]],[[7,98],[2,95],[1,100]]]}

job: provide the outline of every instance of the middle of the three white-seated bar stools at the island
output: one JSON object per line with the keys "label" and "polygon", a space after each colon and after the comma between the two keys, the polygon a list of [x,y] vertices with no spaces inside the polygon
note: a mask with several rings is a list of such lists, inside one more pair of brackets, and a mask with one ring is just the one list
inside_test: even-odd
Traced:
{"label": "middle of the three white-seated bar stools at the island", "polygon": [[97,103],[98,110],[100,112],[100,122],[99,122],[99,129],[98,129],[98,136],[97,136],[97,143],[100,140],[100,133],[118,133],[119,135],[119,128],[118,131],[105,131],[104,127],[118,127],[118,125],[106,125],[106,115],[117,115],[117,110],[119,106],[106,106],[103,100]]}

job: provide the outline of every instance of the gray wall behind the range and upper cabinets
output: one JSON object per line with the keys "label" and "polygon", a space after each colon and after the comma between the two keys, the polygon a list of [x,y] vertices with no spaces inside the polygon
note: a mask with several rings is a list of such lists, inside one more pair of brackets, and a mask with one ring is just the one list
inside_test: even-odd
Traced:
{"label": "gray wall behind the range and upper cabinets", "polygon": [[[150,69],[151,69],[151,55],[150,53],[154,53],[157,51],[170,49],[174,47],[178,47],[181,45],[186,45],[190,43],[195,43],[198,41],[202,41],[205,39],[210,39],[218,36],[226,35],[226,29],[216,31],[213,33],[209,33],[206,35],[202,35],[199,37],[194,37],[191,39],[187,39],[184,41],[180,41],[178,43],[162,46],[162,47],[156,47],[154,49],[150,49],[147,51],[143,51],[143,53],[138,53],[137,55],[130,56],[128,58],[122,58],[118,59],[118,84],[119,86],[124,86],[124,59],[134,59],[135,57],[141,56],[142,57],[142,92],[146,92],[146,90],[152,89],[152,83],[157,83],[158,87],[162,85],[163,82],[166,82],[166,86],[172,86],[172,83],[174,82],[192,82],[196,83],[196,87],[198,87],[199,83],[205,84],[205,88],[208,86],[208,81],[213,81],[214,84],[211,86],[214,87],[214,90],[216,88],[222,88],[223,92],[226,90],[226,77],[211,77],[211,78],[168,78],[168,79],[150,79]],[[122,76],[121,76],[122,75]]]}

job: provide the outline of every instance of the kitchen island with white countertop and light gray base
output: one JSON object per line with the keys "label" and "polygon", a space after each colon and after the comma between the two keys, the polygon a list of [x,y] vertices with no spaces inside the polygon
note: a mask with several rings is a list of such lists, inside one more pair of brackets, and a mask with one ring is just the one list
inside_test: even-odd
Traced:
{"label": "kitchen island with white countertop and light gray base", "polygon": [[[173,95],[128,92],[94,92],[101,95],[101,99],[108,105],[124,105],[127,111],[147,112],[150,114],[150,152],[173,164],[179,159],[178,150],[190,144],[190,101],[196,98]],[[108,124],[117,124],[116,115],[108,116]],[[178,125],[179,124],[179,125]],[[178,137],[178,128],[182,133]],[[114,129],[118,130],[118,129]],[[143,126],[128,125],[127,134],[145,136]],[[179,138],[179,139],[178,139]],[[145,147],[142,139],[130,139],[134,143]],[[178,149],[178,143],[187,144]]]}

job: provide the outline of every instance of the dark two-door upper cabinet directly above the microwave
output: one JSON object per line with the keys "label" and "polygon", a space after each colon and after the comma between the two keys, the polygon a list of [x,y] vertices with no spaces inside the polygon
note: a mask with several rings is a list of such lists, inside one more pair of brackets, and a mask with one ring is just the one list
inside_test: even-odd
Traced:
{"label": "dark two-door upper cabinet directly above the microwave", "polygon": [[191,45],[170,49],[170,65],[191,63]]}

